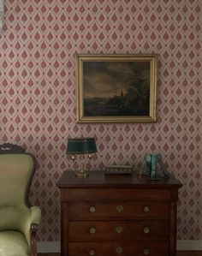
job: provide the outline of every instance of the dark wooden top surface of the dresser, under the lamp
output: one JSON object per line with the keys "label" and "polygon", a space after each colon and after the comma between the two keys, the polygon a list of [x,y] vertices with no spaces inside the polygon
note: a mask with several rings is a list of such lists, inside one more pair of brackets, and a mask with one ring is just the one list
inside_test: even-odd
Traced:
{"label": "dark wooden top surface of the dresser, under the lamp", "polygon": [[151,180],[148,176],[107,175],[104,171],[90,171],[86,178],[77,177],[74,171],[64,171],[57,182],[58,188],[181,188],[181,182],[173,177]]}

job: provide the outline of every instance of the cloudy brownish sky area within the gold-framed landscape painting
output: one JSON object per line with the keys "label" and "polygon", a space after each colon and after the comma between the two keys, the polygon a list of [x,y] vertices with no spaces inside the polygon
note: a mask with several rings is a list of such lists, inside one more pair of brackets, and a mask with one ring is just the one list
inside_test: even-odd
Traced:
{"label": "cloudy brownish sky area within the gold-framed landscape painting", "polygon": [[130,78],[138,73],[149,84],[150,64],[147,62],[83,63],[84,98],[108,98],[126,93]]}

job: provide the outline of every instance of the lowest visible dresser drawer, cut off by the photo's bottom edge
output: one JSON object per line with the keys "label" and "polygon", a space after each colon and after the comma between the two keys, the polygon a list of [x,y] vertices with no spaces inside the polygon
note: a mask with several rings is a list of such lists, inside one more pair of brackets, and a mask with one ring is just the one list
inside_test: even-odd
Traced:
{"label": "lowest visible dresser drawer, cut off by the photo's bottom edge", "polygon": [[70,242],[69,256],[168,256],[167,241]]}

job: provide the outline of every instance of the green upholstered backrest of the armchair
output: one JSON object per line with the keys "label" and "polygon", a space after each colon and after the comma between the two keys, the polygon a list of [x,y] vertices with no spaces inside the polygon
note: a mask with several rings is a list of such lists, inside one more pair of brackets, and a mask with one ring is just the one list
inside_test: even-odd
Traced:
{"label": "green upholstered backrest of the armchair", "polygon": [[0,230],[20,230],[30,215],[28,191],[35,161],[28,153],[0,153]]}

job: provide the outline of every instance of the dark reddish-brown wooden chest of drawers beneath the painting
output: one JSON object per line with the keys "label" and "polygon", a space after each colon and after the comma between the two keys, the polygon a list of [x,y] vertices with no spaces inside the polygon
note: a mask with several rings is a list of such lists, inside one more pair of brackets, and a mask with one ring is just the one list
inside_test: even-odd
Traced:
{"label": "dark reddish-brown wooden chest of drawers beneath the painting", "polygon": [[63,173],[62,256],[175,256],[176,201],[173,178]]}

